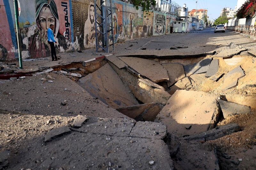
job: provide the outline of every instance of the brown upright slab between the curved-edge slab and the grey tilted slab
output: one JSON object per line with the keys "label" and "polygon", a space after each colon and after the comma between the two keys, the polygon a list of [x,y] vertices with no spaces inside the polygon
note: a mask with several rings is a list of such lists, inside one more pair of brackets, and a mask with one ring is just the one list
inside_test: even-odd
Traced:
{"label": "brown upright slab between the curved-edge slab and the grey tilted slab", "polygon": [[167,70],[169,76],[168,87],[185,77],[183,65],[178,63],[164,63],[162,65]]}

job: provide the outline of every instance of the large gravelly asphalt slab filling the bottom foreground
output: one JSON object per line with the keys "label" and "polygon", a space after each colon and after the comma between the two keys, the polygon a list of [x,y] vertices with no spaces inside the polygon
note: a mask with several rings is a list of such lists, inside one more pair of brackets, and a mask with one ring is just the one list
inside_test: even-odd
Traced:
{"label": "large gravelly asphalt slab filling the bottom foreground", "polygon": [[167,145],[158,139],[72,132],[29,146],[30,152],[17,154],[20,161],[13,160],[10,169],[174,169]]}

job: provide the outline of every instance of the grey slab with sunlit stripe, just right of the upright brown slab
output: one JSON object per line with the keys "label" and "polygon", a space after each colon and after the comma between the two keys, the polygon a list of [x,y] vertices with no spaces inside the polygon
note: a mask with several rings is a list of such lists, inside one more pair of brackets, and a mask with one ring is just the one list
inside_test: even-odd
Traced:
{"label": "grey slab with sunlit stripe, just right of the upright brown slab", "polygon": [[198,63],[188,64],[184,66],[184,70],[187,75],[206,73],[211,63],[210,58],[201,60]]}

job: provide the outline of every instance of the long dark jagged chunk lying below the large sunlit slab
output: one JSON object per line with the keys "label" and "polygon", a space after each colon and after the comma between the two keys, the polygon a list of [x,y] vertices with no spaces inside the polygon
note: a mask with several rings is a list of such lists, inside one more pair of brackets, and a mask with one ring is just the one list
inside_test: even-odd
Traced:
{"label": "long dark jagged chunk lying below the large sunlit slab", "polygon": [[184,139],[188,141],[208,141],[208,140],[215,140],[220,137],[224,137],[226,135],[230,135],[232,133],[240,131],[240,126],[231,123],[224,126],[219,126],[214,129],[208,130],[206,132],[200,133],[198,135],[193,135],[189,137],[185,137]]}

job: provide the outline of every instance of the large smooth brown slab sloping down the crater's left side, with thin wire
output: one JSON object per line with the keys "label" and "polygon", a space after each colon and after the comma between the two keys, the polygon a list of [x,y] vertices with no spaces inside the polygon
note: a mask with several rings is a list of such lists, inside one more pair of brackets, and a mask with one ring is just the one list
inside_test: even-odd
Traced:
{"label": "large smooth brown slab sloping down the crater's left side, with thin wire", "polygon": [[77,84],[113,108],[139,104],[108,63],[81,78]]}

